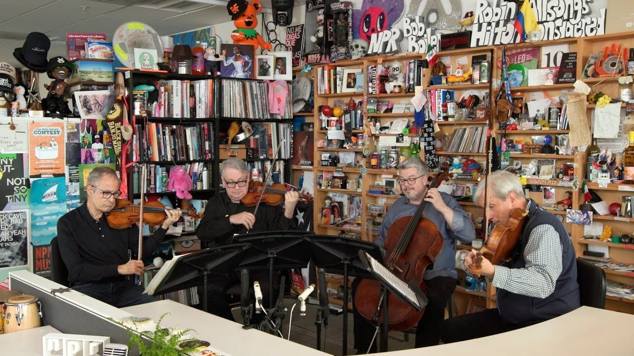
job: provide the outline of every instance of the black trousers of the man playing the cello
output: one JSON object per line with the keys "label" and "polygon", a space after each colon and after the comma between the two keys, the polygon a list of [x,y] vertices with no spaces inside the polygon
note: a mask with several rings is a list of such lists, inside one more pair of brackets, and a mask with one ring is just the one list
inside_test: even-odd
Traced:
{"label": "black trousers of the man playing the cello", "polygon": [[[367,319],[359,314],[354,307],[354,293],[356,288],[361,282],[361,278],[356,278],[353,281],[353,317],[354,317],[354,348],[359,353],[365,353],[370,347],[370,341],[375,331],[375,326],[372,325]],[[416,347],[433,346],[438,345],[440,333],[438,326],[444,319],[444,308],[447,305],[451,297],[451,293],[456,289],[456,279],[453,277],[435,277],[429,281],[425,281],[427,284],[427,299],[429,303],[425,307],[418,326],[416,329]],[[396,298],[392,296],[391,298]],[[378,338],[378,336],[377,336]],[[370,352],[377,352],[377,343],[373,343],[370,347]]]}

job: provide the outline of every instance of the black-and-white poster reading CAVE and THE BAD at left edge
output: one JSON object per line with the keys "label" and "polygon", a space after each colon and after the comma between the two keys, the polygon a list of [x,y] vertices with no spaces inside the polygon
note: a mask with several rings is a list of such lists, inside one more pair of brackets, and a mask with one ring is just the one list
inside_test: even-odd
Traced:
{"label": "black-and-white poster reading CAVE and THE BAD at left edge", "polygon": [[0,212],[0,268],[29,263],[29,213]]}

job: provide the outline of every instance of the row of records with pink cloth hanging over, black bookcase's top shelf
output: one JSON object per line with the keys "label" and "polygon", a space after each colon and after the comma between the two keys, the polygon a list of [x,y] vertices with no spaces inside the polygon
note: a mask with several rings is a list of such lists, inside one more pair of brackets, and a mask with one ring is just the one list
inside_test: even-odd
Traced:
{"label": "row of records with pink cloth hanging over, black bookcase's top shelf", "polygon": [[[275,82],[235,79],[210,80],[219,81],[219,85],[222,87],[221,116],[223,117],[252,120],[280,120],[292,117],[292,89],[288,82],[281,80]],[[285,91],[280,90],[283,89],[280,86],[286,86]],[[275,89],[271,89],[271,87]],[[216,90],[213,94],[217,96],[218,92]],[[287,94],[283,95],[283,92]]]}

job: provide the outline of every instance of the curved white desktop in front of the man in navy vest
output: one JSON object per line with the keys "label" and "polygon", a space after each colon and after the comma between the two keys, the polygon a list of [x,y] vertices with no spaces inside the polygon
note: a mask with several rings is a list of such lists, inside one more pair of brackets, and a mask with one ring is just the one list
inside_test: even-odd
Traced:
{"label": "curved white desktop in front of the man in navy vest", "polygon": [[634,315],[581,307],[555,319],[508,333],[378,355],[632,356],[634,343],[628,337],[632,326]]}

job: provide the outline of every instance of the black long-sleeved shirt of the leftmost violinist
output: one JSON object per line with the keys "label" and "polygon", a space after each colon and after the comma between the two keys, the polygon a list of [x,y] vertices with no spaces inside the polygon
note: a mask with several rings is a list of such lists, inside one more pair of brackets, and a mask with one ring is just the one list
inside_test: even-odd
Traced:
{"label": "black long-sleeved shirt of the leftmost violinist", "polygon": [[[143,241],[143,256],[149,256],[165,237],[159,229]],[[61,258],[68,269],[70,285],[123,280],[117,266],[129,260],[128,250],[139,249],[139,228],[108,226],[105,215],[98,221],[88,212],[86,203],[66,213],[57,223]]]}

